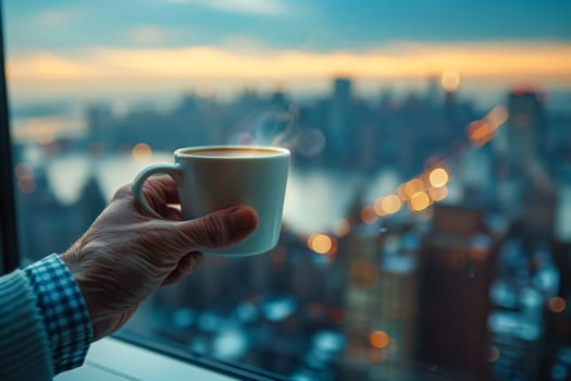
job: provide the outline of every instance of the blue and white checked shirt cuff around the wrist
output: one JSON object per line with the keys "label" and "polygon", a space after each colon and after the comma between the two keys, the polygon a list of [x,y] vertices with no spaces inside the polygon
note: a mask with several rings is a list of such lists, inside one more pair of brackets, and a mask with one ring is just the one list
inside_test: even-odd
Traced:
{"label": "blue and white checked shirt cuff around the wrist", "polygon": [[57,254],[28,266],[24,272],[44,315],[54,374],[82,366],[94,332],[87,305],[72,273]]}

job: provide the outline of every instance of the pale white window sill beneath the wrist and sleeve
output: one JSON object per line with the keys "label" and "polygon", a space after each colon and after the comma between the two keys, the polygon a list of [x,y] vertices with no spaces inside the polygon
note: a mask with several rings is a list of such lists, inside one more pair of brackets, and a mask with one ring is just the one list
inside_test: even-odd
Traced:
{"label": "pale white window sill beneath the wrist and sleeve", "polygon": [[235,379],[113,337],[105,337],[91,345],[83,367],[61,373],[54,380],[229,381]]}

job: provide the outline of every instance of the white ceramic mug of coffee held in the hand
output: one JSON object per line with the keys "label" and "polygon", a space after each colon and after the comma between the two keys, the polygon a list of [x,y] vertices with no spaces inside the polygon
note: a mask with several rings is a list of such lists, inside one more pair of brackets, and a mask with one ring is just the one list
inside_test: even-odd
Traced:
{"label": "white ceramic mug of coffee held in the hand", "polygon": [[258,212],[258,226],[231,246],[206,254],[249,256],[273,248],[280,238],[282,212],[289,171],[289,150],[265,146],[202,146],[174,151],[174,164],[144,169],[132,185],[133,196],[151,216],[162,218],[142,196],[145,181],[167,174],[178,185],[185,220],[235,205]]}

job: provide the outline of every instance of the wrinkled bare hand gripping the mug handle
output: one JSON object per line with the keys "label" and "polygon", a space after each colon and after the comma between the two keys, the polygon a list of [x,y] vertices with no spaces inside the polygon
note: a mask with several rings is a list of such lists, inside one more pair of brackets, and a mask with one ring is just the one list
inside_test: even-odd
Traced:
{"label": "wrinkled bare hand gripping the mug handle", "polygon": [[239,206],[181,221],[170,206],[178,204],[176,184],[166,176],[148,180],[142,193],[164,220],[149,217],[125,185],[61,255],[86,299],[95,340],[119,330],[159,286],[196,269],[201,249],[236,243],[258,223],[253,209]]}

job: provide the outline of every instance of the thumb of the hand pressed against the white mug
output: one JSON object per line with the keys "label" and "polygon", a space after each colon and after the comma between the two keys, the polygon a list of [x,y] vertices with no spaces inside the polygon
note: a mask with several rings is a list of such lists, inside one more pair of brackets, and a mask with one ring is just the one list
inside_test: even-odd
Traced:
{"label": "thumb of the hand pressed against the white mug", "polygon": [[250,207],[222,209],[201,218],[178,222],[176,234],[188,250],[218,248],[234,244],[258,225],[258,213]]}

